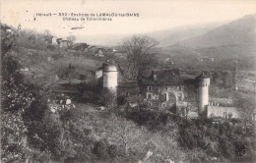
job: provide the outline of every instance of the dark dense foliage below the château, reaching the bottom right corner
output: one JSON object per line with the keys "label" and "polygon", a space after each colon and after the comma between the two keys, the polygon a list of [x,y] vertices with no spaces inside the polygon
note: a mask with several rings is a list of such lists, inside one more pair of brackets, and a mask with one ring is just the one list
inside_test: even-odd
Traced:
{"label": "dark dense foliage below the ch\u00e2teau, reaching the bottom right corner", "polygon": [[233,121],[215,124],[211,119],[187,120],[148,109],[126,109],[125,117],[163,135],[176,131],[178,144],[189,151],[186,153],[189,162],[229,162],[245,158],[252,161],[256,158],[254,131],[234,126]]}

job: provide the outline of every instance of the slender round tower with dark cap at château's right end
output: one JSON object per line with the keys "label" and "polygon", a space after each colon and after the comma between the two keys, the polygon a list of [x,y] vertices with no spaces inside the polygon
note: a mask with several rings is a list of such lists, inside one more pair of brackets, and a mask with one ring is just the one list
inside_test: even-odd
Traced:
{"label": "slender round tower with dark cap at ch\u00e2teau's right end", "polygon": [[205,114],[207,105],[209,104],[209,85],[210,78],[204,73],[196,78],[197,84],[197,100],[198,112],[200,115]]}

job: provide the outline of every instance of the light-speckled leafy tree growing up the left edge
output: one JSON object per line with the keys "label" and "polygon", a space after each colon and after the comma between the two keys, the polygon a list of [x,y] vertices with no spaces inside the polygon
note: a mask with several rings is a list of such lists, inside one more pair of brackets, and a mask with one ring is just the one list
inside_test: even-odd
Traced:
{"label": "light-speckled leafy tree growing up the left edge", "polygon": [[28,127],[23,114],[30,108],[30,85],[23,81],[19,64],[10,55],[16,39],[1,28],[1,161],[24,162],[31,154],[28,145]]}

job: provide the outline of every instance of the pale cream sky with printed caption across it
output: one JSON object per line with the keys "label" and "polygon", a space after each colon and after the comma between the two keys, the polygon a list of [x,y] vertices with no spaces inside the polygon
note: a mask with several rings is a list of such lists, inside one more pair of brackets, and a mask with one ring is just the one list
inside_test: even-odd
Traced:
{"label": "pale cream sky with printed caption across it", "polygon": [[[39,17],[36,13],[57,15]],[[58,13],[139,13],[139,17],[113,17],[112,21],[104,22],[63,21]],[[2,23],[13,27],[21,24],[22,28],[36,31],[48,29],[59,36],[145,33],[171,27],[232,21],[255,13],[256,0],[1,1]],[[72,27],[80,28],[71,29]]]}

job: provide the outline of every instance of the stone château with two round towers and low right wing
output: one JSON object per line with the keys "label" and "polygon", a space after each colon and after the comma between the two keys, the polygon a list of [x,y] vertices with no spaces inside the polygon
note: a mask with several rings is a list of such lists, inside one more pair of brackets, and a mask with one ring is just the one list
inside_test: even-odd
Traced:
{"label": "stone ch\u00e2teau with two round towers and low right wing", "polygon": [[[96,70],[96,79],[101,77],[103,87],[114,91],[117,97],[126,98],[128,102],[143,99],[148,108],[174,108],[176,114],[187,118],[240,118],[230,99],[209,97],[211,80],[205,73],[191,79],[182,75],[179,69],[168,69],[152,71],[149,77],[138,81],[118,82],[117,68],[103,64],[101,69]],[[225,104],[220,105],[218,101],[221,100]],[[138,103],[133,106],[138,106]]]}

